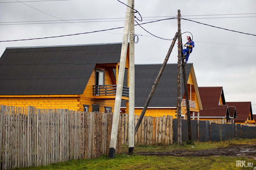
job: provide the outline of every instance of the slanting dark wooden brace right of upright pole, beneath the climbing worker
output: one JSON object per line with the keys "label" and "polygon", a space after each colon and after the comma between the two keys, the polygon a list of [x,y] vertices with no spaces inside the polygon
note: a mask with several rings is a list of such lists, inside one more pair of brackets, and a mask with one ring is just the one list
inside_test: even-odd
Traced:
{"label": "slanting dark wooden brace right of upright pole, beneath the climbing worker", "polygon": [[[182,43],[182,38],[180,38],[181,41],[180,43]],[[183,50],[183,45],[180,46],[181,48],[181,53]],[[182,53],[183,56],[183,53]],[[184,59],[181,60],[182,61],[182,72],[183,72],[183,83],[184,83],[184,92],[185,92],[185,96],[186,96],[186,108],[187,108],[187,117],[188,117],[188,134],[189,134],[189,141],[192,141],[192,133],[191,133],[191,118],[190,118],[190,106],[189,106],[189,95],[188,95],[188,86],[187,86],[187,77],[186,77],[186,70],[185,70],[185,65],[184,65]],[[191,93],[191,91],[190,91]],[[191,94],[190,94],[191,95]]]}

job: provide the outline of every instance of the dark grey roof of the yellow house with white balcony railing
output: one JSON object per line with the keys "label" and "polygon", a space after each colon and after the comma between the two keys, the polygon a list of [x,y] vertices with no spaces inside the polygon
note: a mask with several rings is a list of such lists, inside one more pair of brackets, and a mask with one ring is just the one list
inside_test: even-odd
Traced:
{"label": "dark grey roof of the yellow house with white balcony railing", "polygon": [[[187,81],[189,78],[192,63],[186,65]],[[162,64],[135,64],[135,107],[143,107],[150,90]],[[177,106],[177,84],[178,84],[178,64],[167,64],[156,87],[155,93],[149,102],[148,107],[176,107]],[[124,84],[127,78],[124,78]],[[182,78],[182,96],[184,94]],[[122,107],[125,102],[122,101]]]}

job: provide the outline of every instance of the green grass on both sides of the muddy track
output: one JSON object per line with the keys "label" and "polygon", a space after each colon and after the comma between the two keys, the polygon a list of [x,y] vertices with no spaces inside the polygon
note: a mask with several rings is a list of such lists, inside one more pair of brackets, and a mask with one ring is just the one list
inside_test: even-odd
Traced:
{"label": "green grass on both sides of the muddy track", "polygon": [[[224,157],[224,156],[208,156],[208,157],[174,157],[174,156],[142,156],[136,152],[158,152],[174,149],[209,149],[217,147],[226,147],[234,144],[256,144],[256,139],[252,140],[230,140],[223,142],[195,142],[194,145],[184,143],[182,146],[177,144],[170,146],[136,146],[135,154],[127,155],[128,147],[123,146],[123,153],[116,155],[114,159],[107,156],[101,156],[92,160],[71,160],[52,164],[45,167],[30,167],[24,169],[253,169],[252,167],[236,167],[236,160],[246,160],[253,162],[256,166],[256,160],[243,157]],[[193,148],[194,146],[196,148]]]}

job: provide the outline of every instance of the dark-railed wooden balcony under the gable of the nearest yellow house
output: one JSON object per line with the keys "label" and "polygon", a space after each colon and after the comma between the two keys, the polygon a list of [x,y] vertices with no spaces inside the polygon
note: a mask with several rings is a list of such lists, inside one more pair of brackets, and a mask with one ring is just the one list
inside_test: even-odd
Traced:
{"label": "dark-railed wooden balcony under the gable of the nearest yellow house", "polygon": [[[94,85],[93,98],[115,100],[117,85]],[[129,88],[123,86],[122,99],[129,100]]]}

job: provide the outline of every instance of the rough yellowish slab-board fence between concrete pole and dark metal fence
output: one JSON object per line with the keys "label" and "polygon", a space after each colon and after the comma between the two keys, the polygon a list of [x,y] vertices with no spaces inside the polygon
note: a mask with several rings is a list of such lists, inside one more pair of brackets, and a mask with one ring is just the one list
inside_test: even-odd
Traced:
{"label": "rough yellowish slab-board fence between concrete pole and dark metal fence", "polygon": [[[139,119],[135,115],[135,125]],[[128,114],[121,114],[121,137],[122,144],[128,144]],[[152,145],[156,143],[173,143],[173,121],[172,116],[151,117],[144,116],[141,126],[134,138],[135,145]]]}

